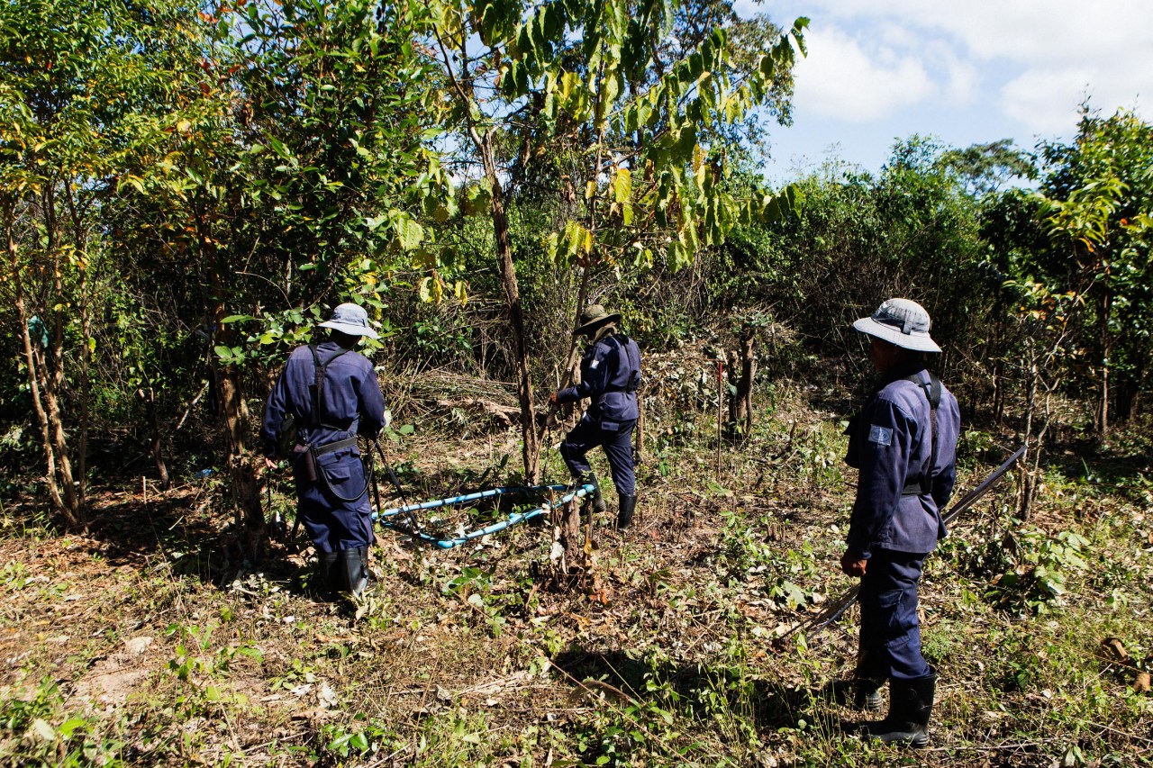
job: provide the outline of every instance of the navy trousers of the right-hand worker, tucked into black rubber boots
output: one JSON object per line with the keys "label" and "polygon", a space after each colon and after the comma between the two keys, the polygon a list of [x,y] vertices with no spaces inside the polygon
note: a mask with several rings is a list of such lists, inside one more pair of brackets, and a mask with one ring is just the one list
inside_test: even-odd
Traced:
{"label": "navy trousers of the right-hand worker, tucked into black rubber boots", "polygon": [[858,677],[915,680],[929,675],[917,618],[917,585],[926,557],[887,549],[873,551],[861,577]]}

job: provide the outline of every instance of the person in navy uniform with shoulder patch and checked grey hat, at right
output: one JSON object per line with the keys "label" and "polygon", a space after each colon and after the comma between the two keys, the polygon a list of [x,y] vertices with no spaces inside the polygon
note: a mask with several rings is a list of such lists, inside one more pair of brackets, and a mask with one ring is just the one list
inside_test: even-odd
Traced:
{"label": "person in navy uniform with shoulder patch and checked grey hat, at right", "polygon": [[867,729],[886,743],[928,743],[936,672],[921,655],[917,587],[925,558],[944,537],[941,512],[956,481],[957,400],[925,368],[941,352],[929,315],[890,299],[853,323],[868,334],[877,389],[849,426],[845,461],[859,470],[842,570],[860,577],[860,650],[856,703],[889,713]]}

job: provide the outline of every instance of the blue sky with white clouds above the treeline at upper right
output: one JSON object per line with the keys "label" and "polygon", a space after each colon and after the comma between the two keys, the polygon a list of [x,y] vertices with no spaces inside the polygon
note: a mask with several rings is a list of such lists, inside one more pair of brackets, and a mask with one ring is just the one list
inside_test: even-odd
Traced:
{"label": "blue sky with white clouds above the treeline at upper right", "polygon": [[951,146],[1070,140],[1078,105],[1153,121],[1153,0],[737,0],[811,22],[793,125],[769,127],[770,181],[837,158],[876,172],[898,138]]}

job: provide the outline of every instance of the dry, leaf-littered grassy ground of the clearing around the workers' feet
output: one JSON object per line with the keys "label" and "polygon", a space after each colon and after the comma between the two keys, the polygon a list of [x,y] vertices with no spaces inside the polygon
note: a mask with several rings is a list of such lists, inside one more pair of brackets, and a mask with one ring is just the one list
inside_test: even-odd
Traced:
{"label": "dry, leaf-littered grassy ground of the clearing around the workers' feet", "polygon": [[[543,527],[447,552],[385,532],[378,587],[354,610],[300,589],[307,550],[277,544],[264,563],[236,562],[211,482],[148,503],[107,491],[84,536],[33,524],[36,503],[23,499],[6,507],[0,540],[0,754],[28,765],[1150,765],[1153,699],[1133,688],[1153,656],[1147,459],[1130,457],[1113,485],[1055,467],[1035,541],[1010,519],[1011,482],[957,527],[922,590],[926,653],[942,677],[932,748],[882,750],[849,736],[861,716],[820,693],[851,668],[852,612],[808,645],[773,642],[850,586],[835,569],[852,494],[842,438],[811,397],[781,383],[758,434],[726,446],[719,470],[707,408],[654,402],[641,517],[625,536],[606,520],[596,528],[595,590],[550,592],[535,577],[548,560]],[[513,466],[514,430],[421,429],[393,447],[406,485],[427,497],[468,485],[506,453]],[[962,487],[997,458],[971,453]],[[547,467],[563,477],[555,452]],[[1060,556],[1041,564],[1068,566],[1062,604],[1042,601],[1037,615],[1024,592],[1017,604],[992,585],[1007,570],[1035,575],[1023,554],[1063,530],[1090,543],[1085,569]]]}

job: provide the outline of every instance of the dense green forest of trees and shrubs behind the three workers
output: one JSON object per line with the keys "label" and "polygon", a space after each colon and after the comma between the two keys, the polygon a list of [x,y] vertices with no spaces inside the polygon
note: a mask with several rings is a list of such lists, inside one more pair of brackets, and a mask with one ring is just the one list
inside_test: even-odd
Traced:
{"label": "dense green forest of trees and shrubs behind the three workers", "polygon": [[786,390],[846,416],[869,381],[850,323],[890,295],[934,318],[974,455],[1028,445],[1013,519],[1069,449],[1147,500],[1153,126],[1086,101],[1068,144],[914,135],[877,173],[766,189],[806,23],[725,0],[6,3],[6,506],[85,532],[100,489],[214,469],[218,521],[266,556],[263,399],[342,301],[382,331],[397,445],[496,420],[528,481],[575,317],[619,310],[672,361],[645,394],[668,475],[714,432],[747,450]]}

